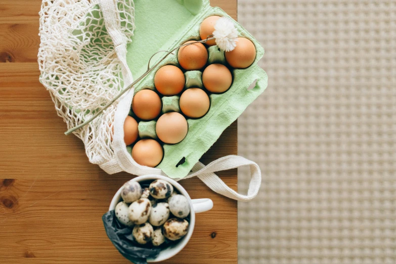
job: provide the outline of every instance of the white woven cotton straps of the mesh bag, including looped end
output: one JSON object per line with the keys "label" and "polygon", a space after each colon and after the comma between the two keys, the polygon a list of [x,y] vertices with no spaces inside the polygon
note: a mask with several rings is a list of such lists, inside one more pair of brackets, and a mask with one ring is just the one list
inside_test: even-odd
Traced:
{"label": "white woven cotton straps of the mesh bag, including looped end", "polygon": [[[125,35],[121,32],[121,25],[118,22],[117,6],[114,0],[99,0],[100,8],[103,13],[106,29],[115,46],[115,52],[121,63],[122,75],[124,78],[124,87],[129,85],[133,81],[133,76],[126,64],[126,42]],[[128,91],[120,99],[117,105],[117,110],[114,116],[114,153],[115,161],[111,160],[105,164],[101,164],[101,167],[109,173],[115,173],[118,171],[127,171],[136,175],[144,174],[161,174],[163,171],[158,168],[148,168],[137,164],[130,156],[130,153],[126,151],[125,144],[123,141],[123,123],[126,115],[130,108],[130,102],[134,95],[134,89]],[[247,195],[239,194],[230,187],[228,187],[216,174],[213,172],[227,170],[232,168],[238,168],[241,166],[250,166],[251,180]],[[193,172],[187,175],[183,179],[188,179],[197,176],[202,182],[204,182],[212,191],[222,194],[228,198],[235,199],[238,201],[249,201],[253,199],[260,189],[261,185],[261,172],[260,168],[256,163],[245,159],[244,157],[230,155],[223,158],[219,158],[208,165],[204,165],[198,162],[193,167]],[[182,179],[179,179],[182,180]]]}

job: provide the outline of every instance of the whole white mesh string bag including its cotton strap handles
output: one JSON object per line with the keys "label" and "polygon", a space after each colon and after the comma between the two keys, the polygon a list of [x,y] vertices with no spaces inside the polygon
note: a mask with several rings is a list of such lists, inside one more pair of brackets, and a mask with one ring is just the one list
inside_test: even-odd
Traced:
{"label": "whole white mesh string bag including its cotton strap handles", "polygon": [[[126,45],[134,34],[134,12],[132,0],[42,1],[40,82],[68,129],[92,117],[133,82],[126,64]],[[161,169],[139,165],[126,150],[123,122],[133,95],[134,89],[130,89],[74,135],[83,141],[90,162],[109,174],[165,175]],[[238,194],[214,174],[244,165],[250,166],[252,176],[247,195]],[[186,178],[194,176],[213,191],[242,201],[255,197],[261,183],[257,164],[234,155],[206,166],[197,163]]]}

